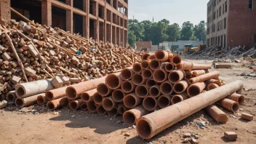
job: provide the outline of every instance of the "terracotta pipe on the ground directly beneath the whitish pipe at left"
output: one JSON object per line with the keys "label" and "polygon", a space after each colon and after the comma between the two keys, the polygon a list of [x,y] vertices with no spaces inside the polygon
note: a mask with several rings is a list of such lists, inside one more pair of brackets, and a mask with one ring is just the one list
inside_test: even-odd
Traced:
{"label": "terracotta pipe on the ground directly beneath the whitish pipe at left", "polygon": [[45,95],[44,93],[32,95],[30,97],[17,97],[15,100],[15,105],[19,108],[23,108],[25,106],[36,104],[37,97],[39,95]]}

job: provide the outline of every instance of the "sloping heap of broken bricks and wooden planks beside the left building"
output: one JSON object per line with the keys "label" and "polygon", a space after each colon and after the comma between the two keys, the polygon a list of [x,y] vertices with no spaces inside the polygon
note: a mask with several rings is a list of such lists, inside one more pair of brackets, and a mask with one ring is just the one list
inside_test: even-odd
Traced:
{"label": "sloping heap of broken bricks and wooden planks beside the left building", "polygon": [[0,95],[15,84],[55,76],[62,78],[57,79],[57,87],[97,79],[140,62],[140,57],[132,49],[84,39],[60,28],[1,19]]}

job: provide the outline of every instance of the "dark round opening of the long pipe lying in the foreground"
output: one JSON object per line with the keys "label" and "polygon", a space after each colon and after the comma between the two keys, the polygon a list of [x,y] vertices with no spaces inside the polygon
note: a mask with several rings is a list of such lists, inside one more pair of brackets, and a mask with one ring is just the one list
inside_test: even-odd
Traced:
{"label": "dark round opening of the long pipe lying in the foreground", "polygon": [[137,132],[144,138],[149,137],[151,135],[151,126],[148,121],[143,119],[137,121]]}

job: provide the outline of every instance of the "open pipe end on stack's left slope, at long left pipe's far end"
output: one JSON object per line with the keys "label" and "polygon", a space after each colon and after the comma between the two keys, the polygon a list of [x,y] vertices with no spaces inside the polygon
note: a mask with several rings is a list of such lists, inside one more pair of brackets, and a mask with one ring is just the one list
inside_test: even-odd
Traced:
{"label": "open pipe end on stack's left slope, at long left pipe's far end", "polygon": [[110,74],[105,78],[105,84],[107,84],[109,89],[119,89],[122,82],[121,76],[116,74]]}

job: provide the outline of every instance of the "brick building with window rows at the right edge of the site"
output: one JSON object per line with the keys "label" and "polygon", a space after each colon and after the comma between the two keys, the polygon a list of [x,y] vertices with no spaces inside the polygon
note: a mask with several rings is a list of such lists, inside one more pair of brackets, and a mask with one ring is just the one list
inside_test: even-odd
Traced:
{"label": "brick building with window rows at the right edge of the site", "polygon": [[256,46],[256,0],[210,0],[207,46]]}

